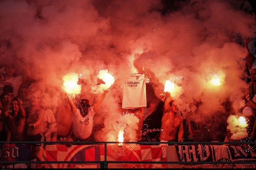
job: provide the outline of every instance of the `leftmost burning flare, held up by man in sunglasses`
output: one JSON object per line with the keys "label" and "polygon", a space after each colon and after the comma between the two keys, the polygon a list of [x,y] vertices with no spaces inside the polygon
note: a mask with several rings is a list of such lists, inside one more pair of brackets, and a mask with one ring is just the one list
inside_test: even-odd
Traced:
{"label": "leftmost burning flare, held up by man in sunglasses", "polygon": [[67,94],[75,95],[81,93],[81,85],[77,84],[78,74],[68,73],[63,76],[63,87]]}

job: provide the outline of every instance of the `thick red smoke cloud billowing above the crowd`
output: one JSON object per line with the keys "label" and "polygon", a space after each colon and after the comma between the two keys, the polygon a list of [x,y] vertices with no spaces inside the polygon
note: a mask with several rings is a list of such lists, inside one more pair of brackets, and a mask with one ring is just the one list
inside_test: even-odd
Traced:
{"label": "thick red smoke cloud billowing above the crowd", "polygon": [[[24,79],[40,79],[48,89],[45,96],[56,100],[45,98],[44,105],[52,108],[64,75],[81,74],[81,97],[93,103],[99,70],[108,69],[115,84],[94,118],[99,129],[104,127],[97,140],[110,140],[104,134],[109,124],[116,126],[122,84],[131,73],[148,75],[156,96],[172,80],[180,88],[175,97],[182,96],[181,110],[201,101],[202,118],[227,100],[241,103],[247,87],[241,44],[253,34],[254,16],[224,0],[178,5],[163,14],[164,4],[155,0],[3,0],[0,66],[13,64]],[[220,86],[209,84],[214,75]]]}

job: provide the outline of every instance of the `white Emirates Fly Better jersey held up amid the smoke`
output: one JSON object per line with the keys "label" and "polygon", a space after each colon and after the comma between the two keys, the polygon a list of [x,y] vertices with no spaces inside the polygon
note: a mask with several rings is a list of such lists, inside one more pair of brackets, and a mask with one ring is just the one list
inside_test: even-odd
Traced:
{"label": "white Emirates Fly Better jersey held up amid the smoke", "polygon": [[147,106],[146,83],[149,83],[149,79],[139,73],[131,75],[125,81],[122,108],[133,109]]}

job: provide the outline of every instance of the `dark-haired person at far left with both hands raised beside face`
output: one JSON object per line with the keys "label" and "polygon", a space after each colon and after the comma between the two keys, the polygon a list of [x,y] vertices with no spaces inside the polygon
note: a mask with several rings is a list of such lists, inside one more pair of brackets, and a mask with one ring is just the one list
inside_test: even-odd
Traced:
{"label": "dark-haired person at far left with both hands raised beside face", "polygon": [[10,103],[10,110],[5,112],[5,120],[11,132],[10,141],[23,141],[25,128],[25,111],[21,106],[22,102],[14,97]]}

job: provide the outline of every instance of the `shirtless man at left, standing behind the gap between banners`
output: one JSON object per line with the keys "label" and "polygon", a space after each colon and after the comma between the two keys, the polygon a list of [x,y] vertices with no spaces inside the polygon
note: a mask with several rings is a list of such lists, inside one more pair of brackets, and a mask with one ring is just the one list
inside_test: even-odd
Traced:
{"label": "shirtless man at left, standing behind the gap between banners", "polygon": [[[41,92],[31,92],[29,95],[30,106],[25,109],[26,112],[26,141],[46,141],[44,130],[44,114],[45,110],[40,106]],[[36,143],[34,146],[34,156],[37,159],[42,159],[43,148],[45,143]]]}

